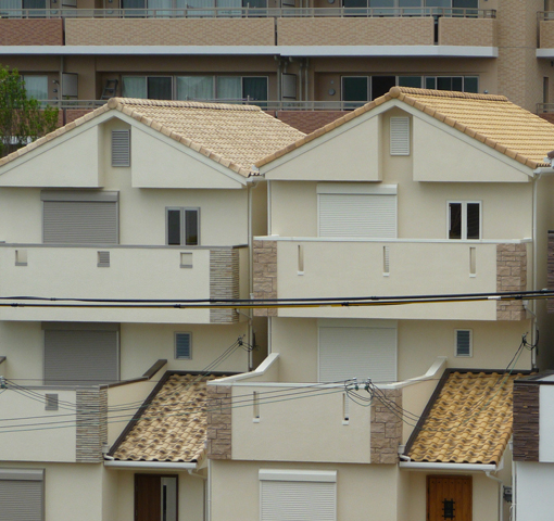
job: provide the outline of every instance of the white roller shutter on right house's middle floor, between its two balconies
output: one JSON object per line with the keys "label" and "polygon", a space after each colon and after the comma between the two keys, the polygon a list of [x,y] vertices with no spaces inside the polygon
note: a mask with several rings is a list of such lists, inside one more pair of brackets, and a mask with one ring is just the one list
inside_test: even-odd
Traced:
{"label": "white roller shutter on right house's middle floor, between its two balconies", "polygon": [[395,328],[319,328],[319,381],[396,381]]}

